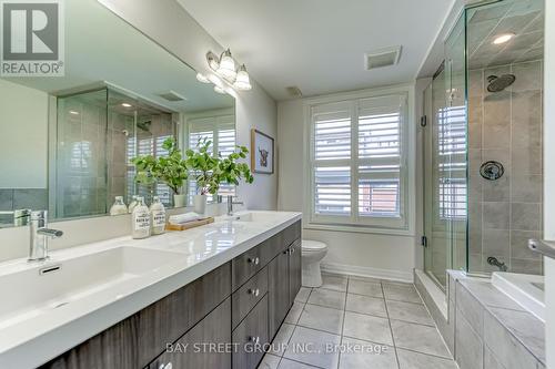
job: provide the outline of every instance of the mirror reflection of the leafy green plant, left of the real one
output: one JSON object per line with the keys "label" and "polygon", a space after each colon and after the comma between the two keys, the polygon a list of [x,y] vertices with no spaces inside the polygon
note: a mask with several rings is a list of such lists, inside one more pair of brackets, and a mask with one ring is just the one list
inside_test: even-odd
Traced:
{"label": "mirror reflection of the leafy green plant, left of the real one", "polygon": [[165,183],[173,192],[174,206],[183,207],[186,195],[182,193],[182,188],[189,177],[186,161],[182,157],[175,139],[167,139],[162,148],[168,151],[167,156],[155,158],[153,155],[143,155],[131,160],[137,167],[135,182],[149,187],[159,182]]}

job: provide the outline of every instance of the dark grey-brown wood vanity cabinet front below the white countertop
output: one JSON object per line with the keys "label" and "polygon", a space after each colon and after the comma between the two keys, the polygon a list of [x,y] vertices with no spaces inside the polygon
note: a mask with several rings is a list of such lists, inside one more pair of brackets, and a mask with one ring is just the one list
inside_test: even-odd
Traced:
{"label": "dark grey-brown wood vanity cabinet front below the white countertop", "polygon": [[42,368],[254,369],[300,287],[296,222]]}

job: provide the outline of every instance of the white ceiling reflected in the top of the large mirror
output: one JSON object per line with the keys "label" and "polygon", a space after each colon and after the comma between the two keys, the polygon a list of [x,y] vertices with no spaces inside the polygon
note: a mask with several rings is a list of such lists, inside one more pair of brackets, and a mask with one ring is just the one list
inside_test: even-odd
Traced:
{"label": "white ceiling reflected in the top of the large mirror", "polygon": [[[79,0],[65,2],[65,75],[6,80],[52,94],[108,82],[179,112],[234,106],[232,96],[214,92],[195,76],[189,65],[98,1]],[[168,91],[186,100],[169,102],[160,96]]]}

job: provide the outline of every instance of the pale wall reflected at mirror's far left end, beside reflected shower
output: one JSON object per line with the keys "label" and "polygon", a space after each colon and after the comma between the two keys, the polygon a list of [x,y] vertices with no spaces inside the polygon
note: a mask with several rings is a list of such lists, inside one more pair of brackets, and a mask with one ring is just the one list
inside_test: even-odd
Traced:
{"label": "pale wall reflected at mirror's far left end, beside reflected shower", "polygon": [[47,188],[48,95],[0,80],[0,188]]}

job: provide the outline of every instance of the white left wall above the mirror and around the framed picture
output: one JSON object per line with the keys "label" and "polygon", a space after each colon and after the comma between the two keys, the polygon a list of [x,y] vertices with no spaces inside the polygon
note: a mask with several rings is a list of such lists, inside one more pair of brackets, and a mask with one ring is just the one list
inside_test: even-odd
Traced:
{"label": "white left wall above the mirror and around the framed picture", "polygon": [[[99,2],[199,72],[210,73],[205,59],[208,51],[220,53],[223,50],[222,45],[174,0],[99,0]],[[272,137],[278,134],[275,102],[252,79],[251,84],[253,85],[251,91],[234,93],[238,144],[248,147],[251,142],[251,129],[255,127]],[[254,183],[241,185],[238,195],[249,208],[275,209],[278,173],[254,174]]]}

